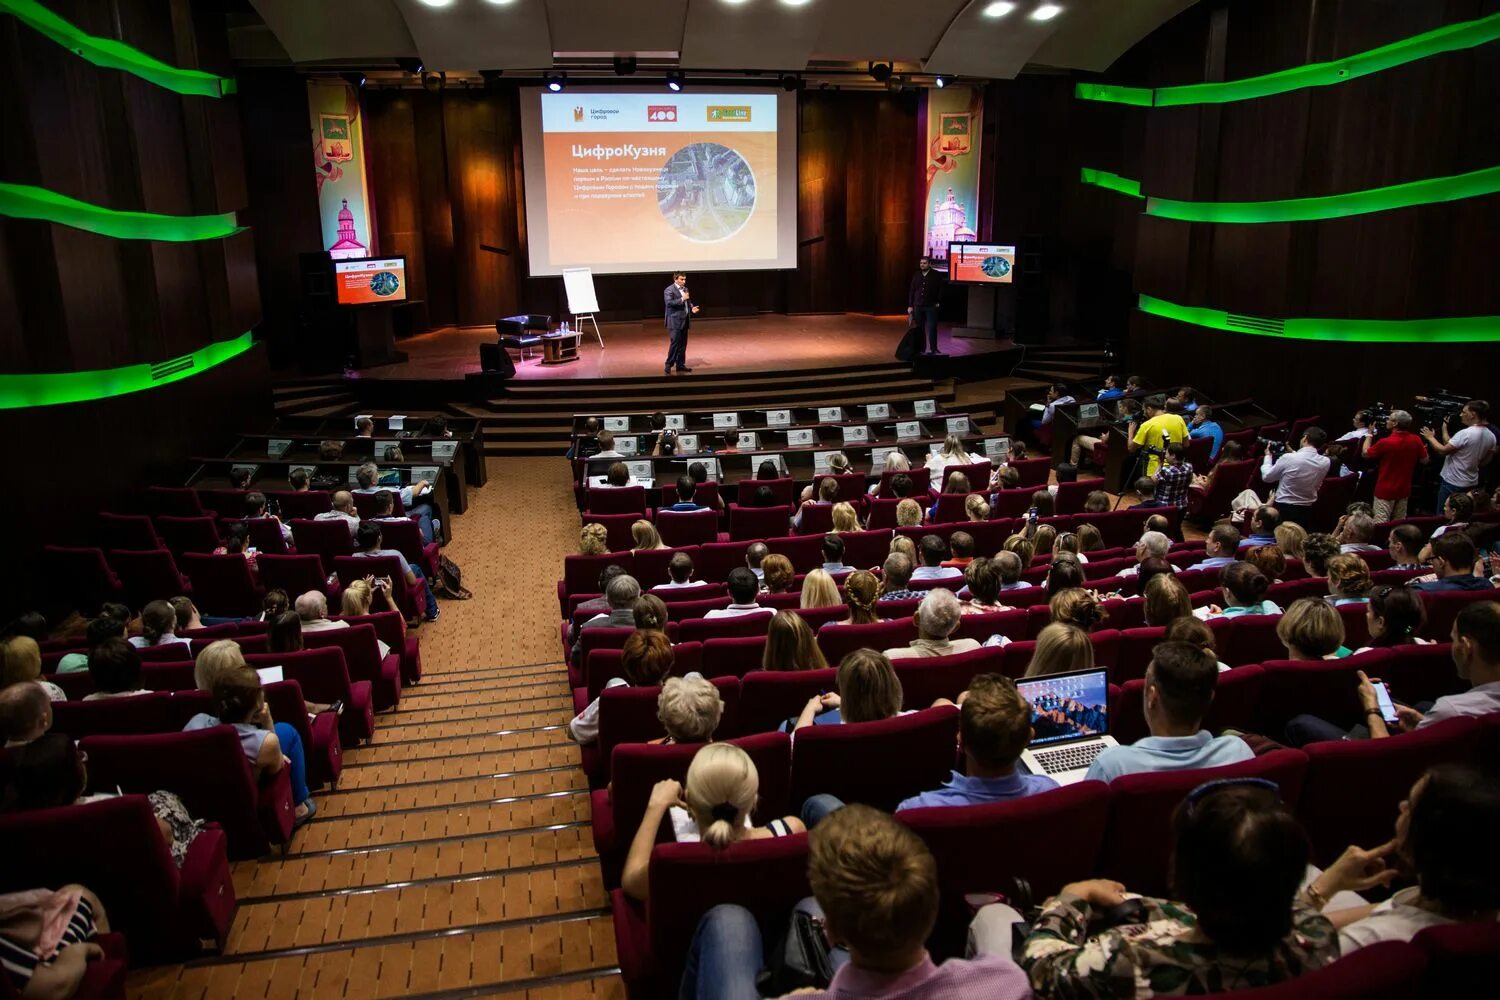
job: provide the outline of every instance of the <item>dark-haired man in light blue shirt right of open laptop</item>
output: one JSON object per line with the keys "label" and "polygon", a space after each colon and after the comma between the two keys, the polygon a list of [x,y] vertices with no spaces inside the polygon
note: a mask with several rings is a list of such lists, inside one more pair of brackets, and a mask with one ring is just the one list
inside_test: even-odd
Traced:
{"label": "dark-haired man in light blue shirt right of open laptop", "polygon": [[1158,643],[1146,667],[1146,727],[1150,736],[1130,747],[1110,747],[1089,766],[1088,777],[1113,781],[1146,771],[1221,768],[1256,753],[1239,736],[1214,736],[1203,717],[1214,702],[1218,660],[1190,642]]}

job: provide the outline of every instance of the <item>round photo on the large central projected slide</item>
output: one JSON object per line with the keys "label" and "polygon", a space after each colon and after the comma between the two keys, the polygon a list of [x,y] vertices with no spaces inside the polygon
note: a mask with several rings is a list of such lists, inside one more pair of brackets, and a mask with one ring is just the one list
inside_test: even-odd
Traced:
{"label": "round photo on the large central projected slide", "polygon": [[694,243],[728,240],[754,213],[754,171],[735,150],[693,142],[672,154],[657,178],[657,208]]}

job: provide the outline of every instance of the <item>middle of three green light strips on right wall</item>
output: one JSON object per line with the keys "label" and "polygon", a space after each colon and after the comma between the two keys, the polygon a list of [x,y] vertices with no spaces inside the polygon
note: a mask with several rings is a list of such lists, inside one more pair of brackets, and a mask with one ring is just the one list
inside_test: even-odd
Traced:
{"label": "middle of three green light strips on right wall", "polygon": [[[1084,184],[1095,184],[1140,198],[1140,181],[1118,177],[1108,171],[1082,171]],[[1390,211],[1412,205],[1431,205],[1462,198],[1479,198],[1500,192],[1500,166],[1486,166],[1452,177],[1413,180],[1389,187],[1352,190],[1344,195],[1322,195],[1318,198],[1286,198],[1282,201],[1174,201],[1172,198],[1146,198],[1146,214],[1180,222],[1311,222],[1316,219],[1342,219],[1371,211]]]}

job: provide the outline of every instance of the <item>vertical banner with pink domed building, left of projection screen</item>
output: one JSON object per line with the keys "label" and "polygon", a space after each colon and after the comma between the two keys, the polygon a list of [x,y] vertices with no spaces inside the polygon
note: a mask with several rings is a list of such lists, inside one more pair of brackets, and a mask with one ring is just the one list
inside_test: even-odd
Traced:
{"label": "vertical banner with pink domed building, left of projection screen", "polygon": [[312,162],[318,178],[322,247],[334,259],[370,256],[369,192],[364,187],[364,127],[360,94],[342,79],[309,79]]}

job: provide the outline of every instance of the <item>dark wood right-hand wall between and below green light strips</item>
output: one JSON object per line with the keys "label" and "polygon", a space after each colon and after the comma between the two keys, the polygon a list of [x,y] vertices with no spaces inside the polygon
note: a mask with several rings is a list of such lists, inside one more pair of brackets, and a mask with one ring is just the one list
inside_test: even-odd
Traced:
{"label": "dark wood right-hand wall between and below green light strips", "polygon": [[[1496,10],[1494,0],[1200,3],[1136,46],[1106,79],[1148,87],[1236,79],[1350,55]],[[1136,177],[1150,195],[1262,201],[1500,163],[1497,96],[1500,46],[1491,43],[1257,100],[1094,105],[1076,114],[1114,118],[1122,129],[1114,159],[1095,150],[1088,165]],[[1275,318],[1500,315],[1500,286],[1492,280],[1500,259],[1496,195],[1268,225],[1148,217],[1140,202],[1092,189],[1080,202],[1113,219],[1110,258],[1130,261],[1134,291],[1170,301]],[[1077,217],[1070,225],[1065,232],[1082,232]],[[1294,342],[1140,313],[1131,319],[1132,366],[1167,382],[1200,382],[1221,397],[1254,394],[1281,414],[1332,411],[1330,424],[1341,424],[1356,405],[1406,402],[1438,385],[1486,393],[1488,379],[1479,372],[1496,361],[1494,345]]]}

